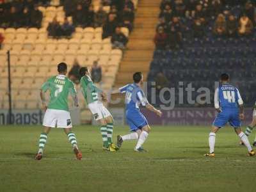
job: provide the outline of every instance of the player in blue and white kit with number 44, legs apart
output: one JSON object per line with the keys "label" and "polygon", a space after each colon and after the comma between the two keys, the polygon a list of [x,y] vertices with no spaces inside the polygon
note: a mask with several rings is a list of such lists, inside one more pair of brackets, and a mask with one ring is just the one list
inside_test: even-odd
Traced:
{"label": "player in blue and white kit with number 44, legs apart", "polygon": [[204,156],[215,156],[214,145],[216,132],[218,132],[221,127],[224,127],[227,122],[234,127],[240,140],[243,141],[244,145],[248,148],[248,156],[255,156],[255,152],[252,150],[246,134],[241,130],[241,120],[244,119],[244,107],[239,90],[229,84],[230,78],[228,74],[221,74],[220,81],[221,84],[214,93],[214,108],[218,111],[218,115],[212,124],[209,134],[210,152]]}

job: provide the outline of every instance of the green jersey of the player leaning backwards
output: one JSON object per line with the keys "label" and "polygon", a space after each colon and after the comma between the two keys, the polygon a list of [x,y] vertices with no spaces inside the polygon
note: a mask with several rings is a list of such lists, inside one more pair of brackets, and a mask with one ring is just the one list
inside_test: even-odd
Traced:
{"label": "green jersey of the player leaning backwards", "polygon": [[87,104],[99,100],[98,93],[102,92],[102,90],[100,90],[99,88],[97,88],[97,86],[95,86],[95,84],[93,84],[92,79],[89,76],[83,76],[80,83],[82,93]]}

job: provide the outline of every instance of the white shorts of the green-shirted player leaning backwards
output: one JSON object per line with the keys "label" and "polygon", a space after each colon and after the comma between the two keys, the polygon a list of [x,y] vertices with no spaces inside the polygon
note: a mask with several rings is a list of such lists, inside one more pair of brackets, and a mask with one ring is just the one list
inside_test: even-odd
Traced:
{"label": "white shorts of the green-shirted player leaning backwards", "polygon": [[108,111],[107,108],[102,104],[102,102],[95,101],[88,104],[88,108],[92,112],[93,118],[95,120],[100,120],[102,118],[106,118],[111,116],[111,113]]}

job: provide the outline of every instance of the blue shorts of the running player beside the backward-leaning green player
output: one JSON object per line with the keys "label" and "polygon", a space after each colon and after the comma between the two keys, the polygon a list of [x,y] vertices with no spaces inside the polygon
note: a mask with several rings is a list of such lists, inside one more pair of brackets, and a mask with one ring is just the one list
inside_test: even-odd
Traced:
{"label": "blue shorts of the running player beside the backward-leaning green player", "polygon": [[130,131],[137,131],[145,125],[148,125],[148,121],[145,116],[140,113],[140,111],[130,111],[125,112],[127,124],[130,127]]}

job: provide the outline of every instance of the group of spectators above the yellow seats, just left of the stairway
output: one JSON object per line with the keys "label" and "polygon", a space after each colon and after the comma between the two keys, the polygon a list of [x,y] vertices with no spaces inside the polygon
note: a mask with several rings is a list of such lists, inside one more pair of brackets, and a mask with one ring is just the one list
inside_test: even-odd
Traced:
{"label": "group of spectators above the yellow seats, just left of the stairway", "polygon": [[[91,0],[64,0],[63,6],[67,17],[72,17],[74,26],[102,27],[102,38],[111,37],[114,48],[124,49],[127,37],[120,31],[121,27],[132,31],[134,21],[134,4],[131,0],[102,0],[99,10],[93,11]],[[109,6],[109,13],[103,6]]]}

